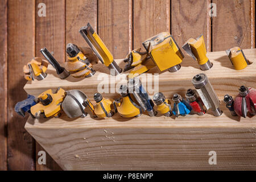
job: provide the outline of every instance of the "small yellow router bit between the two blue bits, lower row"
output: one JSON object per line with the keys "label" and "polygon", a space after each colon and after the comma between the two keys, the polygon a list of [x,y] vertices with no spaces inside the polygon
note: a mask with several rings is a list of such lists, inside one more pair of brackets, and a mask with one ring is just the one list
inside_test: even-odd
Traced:
{"label": "small yellow router bit between the two blue bits, lower row", "polygon": [[155,104],[158,106],[158,113],[170,117],[172,115],[171,102],[166,99],[162,92],[155,93],[153,96]]}

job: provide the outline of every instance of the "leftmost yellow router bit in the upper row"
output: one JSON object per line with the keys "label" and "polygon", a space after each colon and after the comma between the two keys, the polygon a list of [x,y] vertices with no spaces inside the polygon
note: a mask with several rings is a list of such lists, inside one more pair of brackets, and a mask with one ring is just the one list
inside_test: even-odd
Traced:
{"label": "leftmost yellow router bit in the upper row", "polygon": [[27,65],[24,65],[23,72],[26,80],[43,80],[46,76],[48,63],[40,57],[35,57]]}

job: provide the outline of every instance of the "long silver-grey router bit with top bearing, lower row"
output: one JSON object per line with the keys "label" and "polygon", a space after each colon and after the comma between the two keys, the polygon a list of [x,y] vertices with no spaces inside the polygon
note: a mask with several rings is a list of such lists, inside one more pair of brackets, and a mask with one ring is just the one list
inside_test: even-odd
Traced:
{"label": "long silver-grey router bit with top bearing, lower row", "polygon": [[220,100],[216,96],[207,75],[200,73],[193,77],[192,84],[195,86],[197,93],[203,101],[205,107],[213,111],[214,116],[220,116],[222,111],[220,110]]}

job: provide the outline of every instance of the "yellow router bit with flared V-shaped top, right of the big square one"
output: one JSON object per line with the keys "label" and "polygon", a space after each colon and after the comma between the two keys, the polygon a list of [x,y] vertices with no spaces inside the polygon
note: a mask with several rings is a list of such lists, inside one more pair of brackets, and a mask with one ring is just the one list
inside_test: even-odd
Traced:
{"label": "yellow router bit with flared V-shaped top, right of the big square one", "polygon": [[208,70],[212,68],[212,63],[210,63],[207,55],[204,44],[204,37],[200,35],[198,38],[193,39],[190,38],[188,41],[182,46],[182,48],[191,56],[200,66],[201,70]]}

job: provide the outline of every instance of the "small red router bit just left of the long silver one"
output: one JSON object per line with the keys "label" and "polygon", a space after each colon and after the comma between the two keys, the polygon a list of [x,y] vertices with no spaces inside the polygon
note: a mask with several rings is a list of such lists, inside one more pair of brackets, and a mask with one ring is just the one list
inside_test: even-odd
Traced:
{"label": "small red router bit just left of the long silver one", "polygon": [[189,105],[192,107],[192,110],[198,115],[204,115],[206,113],[204,109],[204,103],[201,98],[197,95],[196,90],[188,89],[186,93],[187,100]]}

